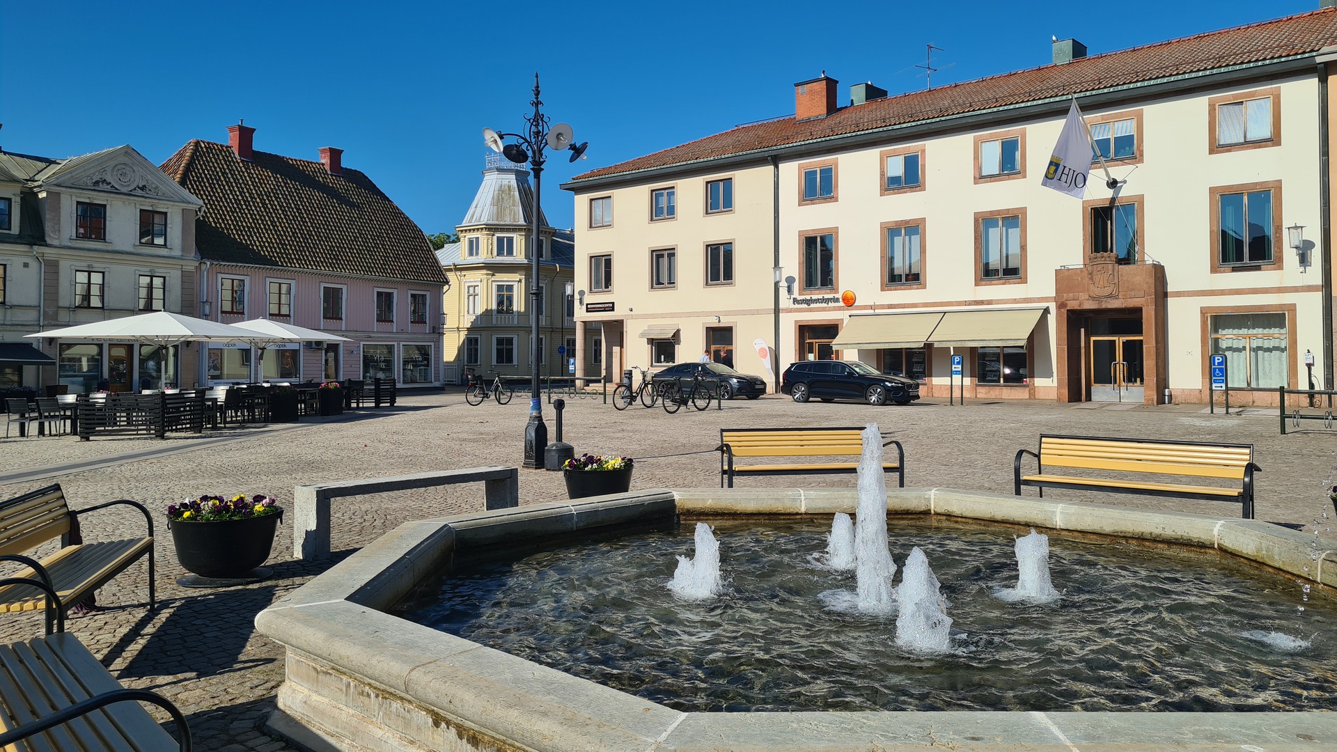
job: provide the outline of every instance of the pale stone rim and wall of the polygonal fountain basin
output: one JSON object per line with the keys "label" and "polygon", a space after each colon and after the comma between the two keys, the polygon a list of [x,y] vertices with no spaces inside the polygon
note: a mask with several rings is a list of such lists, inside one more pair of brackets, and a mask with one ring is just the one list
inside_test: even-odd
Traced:
{"label": "pale stone rim and wall of the polygonal fountain basin", "polygon": [[[269,729],[308,749],[358,752],[1337,748],[1330,712],[683,713],[381,610],[457,551],[524,549],[679,515],[830,515],[856,506],[854,488],[683,488],[401,525],[255,618],[262,634],[287,648]],[[1337,551],[1266,522],[949,488],[888,488],[886,506],[890,515],[1215,549],[1337,586]]]}

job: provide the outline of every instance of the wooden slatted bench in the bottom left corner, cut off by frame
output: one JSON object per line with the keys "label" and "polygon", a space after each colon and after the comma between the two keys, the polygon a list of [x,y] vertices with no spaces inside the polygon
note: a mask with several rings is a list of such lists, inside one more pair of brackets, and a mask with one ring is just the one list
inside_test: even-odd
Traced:
{"label": "wooden slatted bench in the bottom left corner, cut off by frame", "polygon": [[[47,605],[47,634],[0,645],[0,749],[4,752],[191,751],[186,717],[147,689],[126,689],[82,642],[64,630],[59,598],[40,579],[5,578],[0,586],[37,589]],[[52,633],[52,610],[59,629]],[[176,723],[174,740],[139,702],[152,702]]]}

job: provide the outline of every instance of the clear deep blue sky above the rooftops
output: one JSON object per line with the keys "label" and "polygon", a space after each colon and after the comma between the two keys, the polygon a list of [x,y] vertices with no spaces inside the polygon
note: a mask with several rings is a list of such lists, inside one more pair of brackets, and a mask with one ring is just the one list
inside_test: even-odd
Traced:
{"label": "clear deep blue sky above the rooftops", "polygon": [[[1050,36],[1092,55],[1312,11],[1318,0],[1079,3],[4,3],[0,146],[72,157],[128,143],[155,163],[193,138],[317,159],[344,149],[428,233],[479,185],[484,126],[520,131],[533,74],[544,112],[588,140],[550,153],[558,186],[595,167],[794,111],[822,70],[892,94],[1051,60]],[[531,29],[537,28],[537,35]]]}

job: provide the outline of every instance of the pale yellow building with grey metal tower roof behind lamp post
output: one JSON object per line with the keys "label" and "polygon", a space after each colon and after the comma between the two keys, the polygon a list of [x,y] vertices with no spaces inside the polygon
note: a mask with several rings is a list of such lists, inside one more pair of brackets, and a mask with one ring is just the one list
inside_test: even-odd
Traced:
{"label": "pale yellow building with grey metal tower roof behind lamp post", "polygon": [[[480,377],[496,372],[517,379],[533,372],[532,206],[529,173],[489,154],[473,203],[456,226],[460,242],[437,252],[451,280],[443,296],[441,345],[448,384],[463,383],[464,368]],[[574,241],[568,230],[548,226],[544,217],[539,218],[539,376],[570,379],[576,349],[574,298],[567,296]]]}

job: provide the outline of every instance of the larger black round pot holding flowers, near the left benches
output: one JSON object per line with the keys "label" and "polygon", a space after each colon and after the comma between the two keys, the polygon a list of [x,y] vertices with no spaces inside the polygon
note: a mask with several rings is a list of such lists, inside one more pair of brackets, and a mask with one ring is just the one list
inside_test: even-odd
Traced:
{"label": "larger black round pot holding flowers, near the left benches", "polygon": [[283,510],[265,516],[223,522],[168,519],[176,561],[187,571],[209,578],[245,578],[265,563]]}

